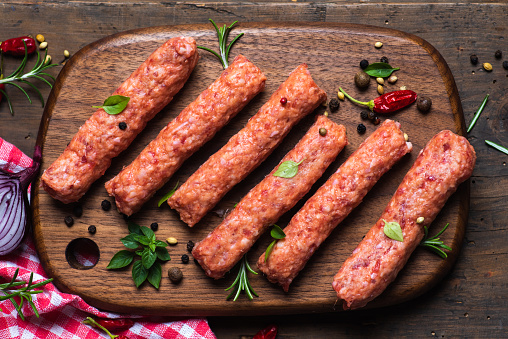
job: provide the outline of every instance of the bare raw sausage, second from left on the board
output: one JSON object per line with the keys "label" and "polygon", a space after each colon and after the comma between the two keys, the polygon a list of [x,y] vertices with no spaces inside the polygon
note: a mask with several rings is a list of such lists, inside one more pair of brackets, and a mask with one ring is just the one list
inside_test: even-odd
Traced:
{"label": "bare raw sausage, second from left on the board", "polygon": [[118,210],[137,212],[182,163],[261,92],[266,77],[243,55],[172,120],[139,156],[106,183]]}

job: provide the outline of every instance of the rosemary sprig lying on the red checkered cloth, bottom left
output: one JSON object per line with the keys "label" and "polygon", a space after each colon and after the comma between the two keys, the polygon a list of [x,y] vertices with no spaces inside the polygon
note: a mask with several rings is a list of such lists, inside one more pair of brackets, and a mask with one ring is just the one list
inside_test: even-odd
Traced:
{"label": "rosemary sprig lying on the red checkered cloth, bottom left", "polygon": [[[14,305],[14,308],[18,312],[21,320],[25,320],[25,316],[23,315],[21,308],[23,307],[23,301],[26,300],[30,304],[30,306],[34,310],[35,315],[38,318],[39,312],[37,311],[37,308],[35,307],[35,304],[32,301],[32,295],[42,293],[43,291],[41,290],[34,291],[34,289],[44,286],[47,283],[50,283],[51,281],[53,281],[53,278],[41,281],[37,284],[32,284],[34,276],[33,272],[30,273],[30,279],[28,280],[28,282],[16,281],[16,278],[18,277],[18,272],[19,268],[16,269],[16,272],[14,272],[14,276],[12,277],[12,280],[9,283],[0,284],[0,291],[4,293],[3,296],[0,296],[0,301],[9,299],[12,305]],[[19,287],[25,284],[26,284],[25,287],[13,289],[13,287]],[[15,299],[16,297],[20,298],[19,303],[16,301]],[[2,311],[2,309],[0,309],[0,311]]]}

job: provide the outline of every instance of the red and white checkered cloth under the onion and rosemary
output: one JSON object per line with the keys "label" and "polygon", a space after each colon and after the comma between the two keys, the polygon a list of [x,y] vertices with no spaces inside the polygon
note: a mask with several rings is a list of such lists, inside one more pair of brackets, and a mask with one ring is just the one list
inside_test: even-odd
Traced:
{"label": "red and white checkered cloth under the onion and rosemary", "polygon": [[[18,172],[29,167],[32,159],[12,144],[0,138],[0,167]],[[28,281],[34,272],[34,283],[48,279],[44,272],[31,236],[25,237],[21,245],[10,254],[0,257],[2,282],[10,281],[19,268],[18,280]],[[108,338],[97,328],[84,325],[88,316],[101,318],[125,318],[125,315],[101,312],[88,305],[77,295],[60,292],[53,284],[42,287],[43,293],[33,295],[33,302],[39,311],[39,318],[28,303],[22,308],[26,320],[21,320],[9,300],[0,302],[0,339],[96,339]],[[156,338],[215,338],[204,318],[170,321],[168,318],[151,319],[136,317],[134,325],[122,333],[132,339]],[[157,320],[157,321],[156,321]],[[160,320],[160,321],[159,321]]]}

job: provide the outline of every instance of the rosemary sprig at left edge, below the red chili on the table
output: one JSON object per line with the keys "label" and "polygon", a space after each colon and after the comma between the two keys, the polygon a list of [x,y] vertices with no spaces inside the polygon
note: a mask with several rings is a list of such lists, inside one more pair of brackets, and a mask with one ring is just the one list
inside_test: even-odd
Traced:
{"label": "rosemary sprig at left edge, below the red chili on the table", "polygon": [[[27,52],[26,43],[25,42],[23,42],[23,43],[25,44],[25,56],[23,57],[21,64],[18,66],[18,68],[14,72],[12,72],[12,74],[10,74],[9,76],[7,76],[5,78],[3,77],[3,67],[2,67],[2,69],[0,69],[0,84],[12,85],[12,86],[16,87],[21,92],[23,92],[23,94],[25,94],[25,96],[28,98],[28,101],[30,103],[32,103],[32,99],[30,99],[30,96],[28,95],[28,93],[23,89],[23,87],[18,85],[16,82],[20,82],[22,84],[30,86],[38,94],[39,99],[41,100],[41,103],[42,103],[42,107],[44,107],[44,97],[42,96],[41,91],[37,88],[37,86],[35,86],[33,83],[31,83],[27,79],[35,78],[35,79],[41,80],[42,82],[46,83],[50,88],[53,88],[53,85],[47,79],[45,79],[44,76],[49,77],[53,81],[55,81],[55,78],[52,75],[46,73],[45,70],[47,70],[48,68],[51,68],[51,67],[58,66],[58,64],[51,64],[50,63],[51,61],[47,60],[47,56],[48,56],[47,49],[46,49],[46,52],[44,53],[44,58],[42,58],[42,59],[41,59],[41,55],[40,55],[39,51],[36,50],[37,61],[35,62],[35,65],[29,72],[24,73],[25,67],[26,67],[26,64],[28,61],[28,52]],[[3,54],[1,55],[1,58],[2,58],[1,65],[3,66]],[[7,104],[9,105],[9,111],[11,112],[11,115],[14,115],[14,111],[12,109],[12,102],[11,102],[9,96],[7,95],[7,92],[1,88],[0,88],[0,92],[3,94],[3,96],[7,100]]]}

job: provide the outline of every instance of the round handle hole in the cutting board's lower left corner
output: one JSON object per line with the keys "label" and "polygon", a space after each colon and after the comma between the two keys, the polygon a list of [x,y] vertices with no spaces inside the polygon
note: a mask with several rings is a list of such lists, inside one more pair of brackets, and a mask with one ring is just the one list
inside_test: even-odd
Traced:
{"label": "round handle hole in the cutting board's lower left corner", "polygon": [[88,238],[72,240],[65,249],[65,259],[72,268],[89,270],[99,262],[100,251],[95,241]]}

